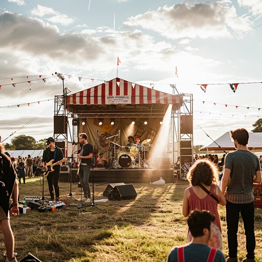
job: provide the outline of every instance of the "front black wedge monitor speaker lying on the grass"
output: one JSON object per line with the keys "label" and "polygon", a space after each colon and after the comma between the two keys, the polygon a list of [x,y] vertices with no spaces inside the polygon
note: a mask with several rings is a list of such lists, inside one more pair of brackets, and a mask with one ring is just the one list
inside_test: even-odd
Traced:
{"label": "front black wedge monitor speaker lying on the grass", "polygon": [[108,194],[108,200],[136,199],[137,192],[133,184],[115,186]]}

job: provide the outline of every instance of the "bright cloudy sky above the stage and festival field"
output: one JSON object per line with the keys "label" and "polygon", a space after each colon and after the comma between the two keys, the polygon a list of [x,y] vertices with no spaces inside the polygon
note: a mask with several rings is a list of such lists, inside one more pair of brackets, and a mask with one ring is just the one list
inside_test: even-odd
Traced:
{"label": "bright cloudy sky above the stage and festival field", "polygon": [[251,132],[262,117],[261,15],[261,0],[2,0],[2,142],[52,136],[55,72],[75,93],[115,78],[117,57],[122,79],[192,94],[194,145]]}

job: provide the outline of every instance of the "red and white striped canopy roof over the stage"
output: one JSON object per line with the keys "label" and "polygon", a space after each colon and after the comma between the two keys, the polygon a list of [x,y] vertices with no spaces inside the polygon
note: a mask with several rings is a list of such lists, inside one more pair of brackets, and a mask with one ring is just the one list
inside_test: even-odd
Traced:
{"label": "red and white striped canopy roof over the stage", "polygon": [[115,78],[67,97],[67,105],[92,104],[176,104],[180,95],[171,95]]}

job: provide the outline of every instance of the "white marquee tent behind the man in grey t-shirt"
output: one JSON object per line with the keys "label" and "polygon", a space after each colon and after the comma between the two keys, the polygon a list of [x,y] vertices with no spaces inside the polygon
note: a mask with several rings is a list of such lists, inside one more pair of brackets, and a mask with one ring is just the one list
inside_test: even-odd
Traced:
{"label": "white marquee tent behind the man in grey t-shirt", "polygon": [[[248,148],[262,149],[262,133],[249,132]],[[235,150],[234,142],[231,141],[229,132],[225,133],[220,138],[217,138],[214,142],[210,142],[200,148],[200,151],[212,151],[212,150]]]}

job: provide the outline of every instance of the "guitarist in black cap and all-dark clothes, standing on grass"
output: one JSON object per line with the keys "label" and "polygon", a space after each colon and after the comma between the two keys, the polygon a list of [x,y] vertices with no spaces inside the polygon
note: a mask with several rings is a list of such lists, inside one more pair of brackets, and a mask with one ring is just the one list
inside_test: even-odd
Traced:
{"label": "guitarist in black cap and all-dark clothes, standing on grass", "polygon": [[47,163],[51,160],[54,160],[53,163],[58,162],[57,165],[54,165],[54,171],[50,172],[47,181],[48,181],[48,188],[51,196],[51,200],[54,201],[54,189],[55,189],[55,200],[59,201],[59,185],[58,179],[60,174],[60,166],[61,161],[63,159],[63,152],[60,148],[55,145],[55,140],[52,137],[49,137],[46,141],[48,145],[47,149],[43,151],[43,170],[47,171]]}

